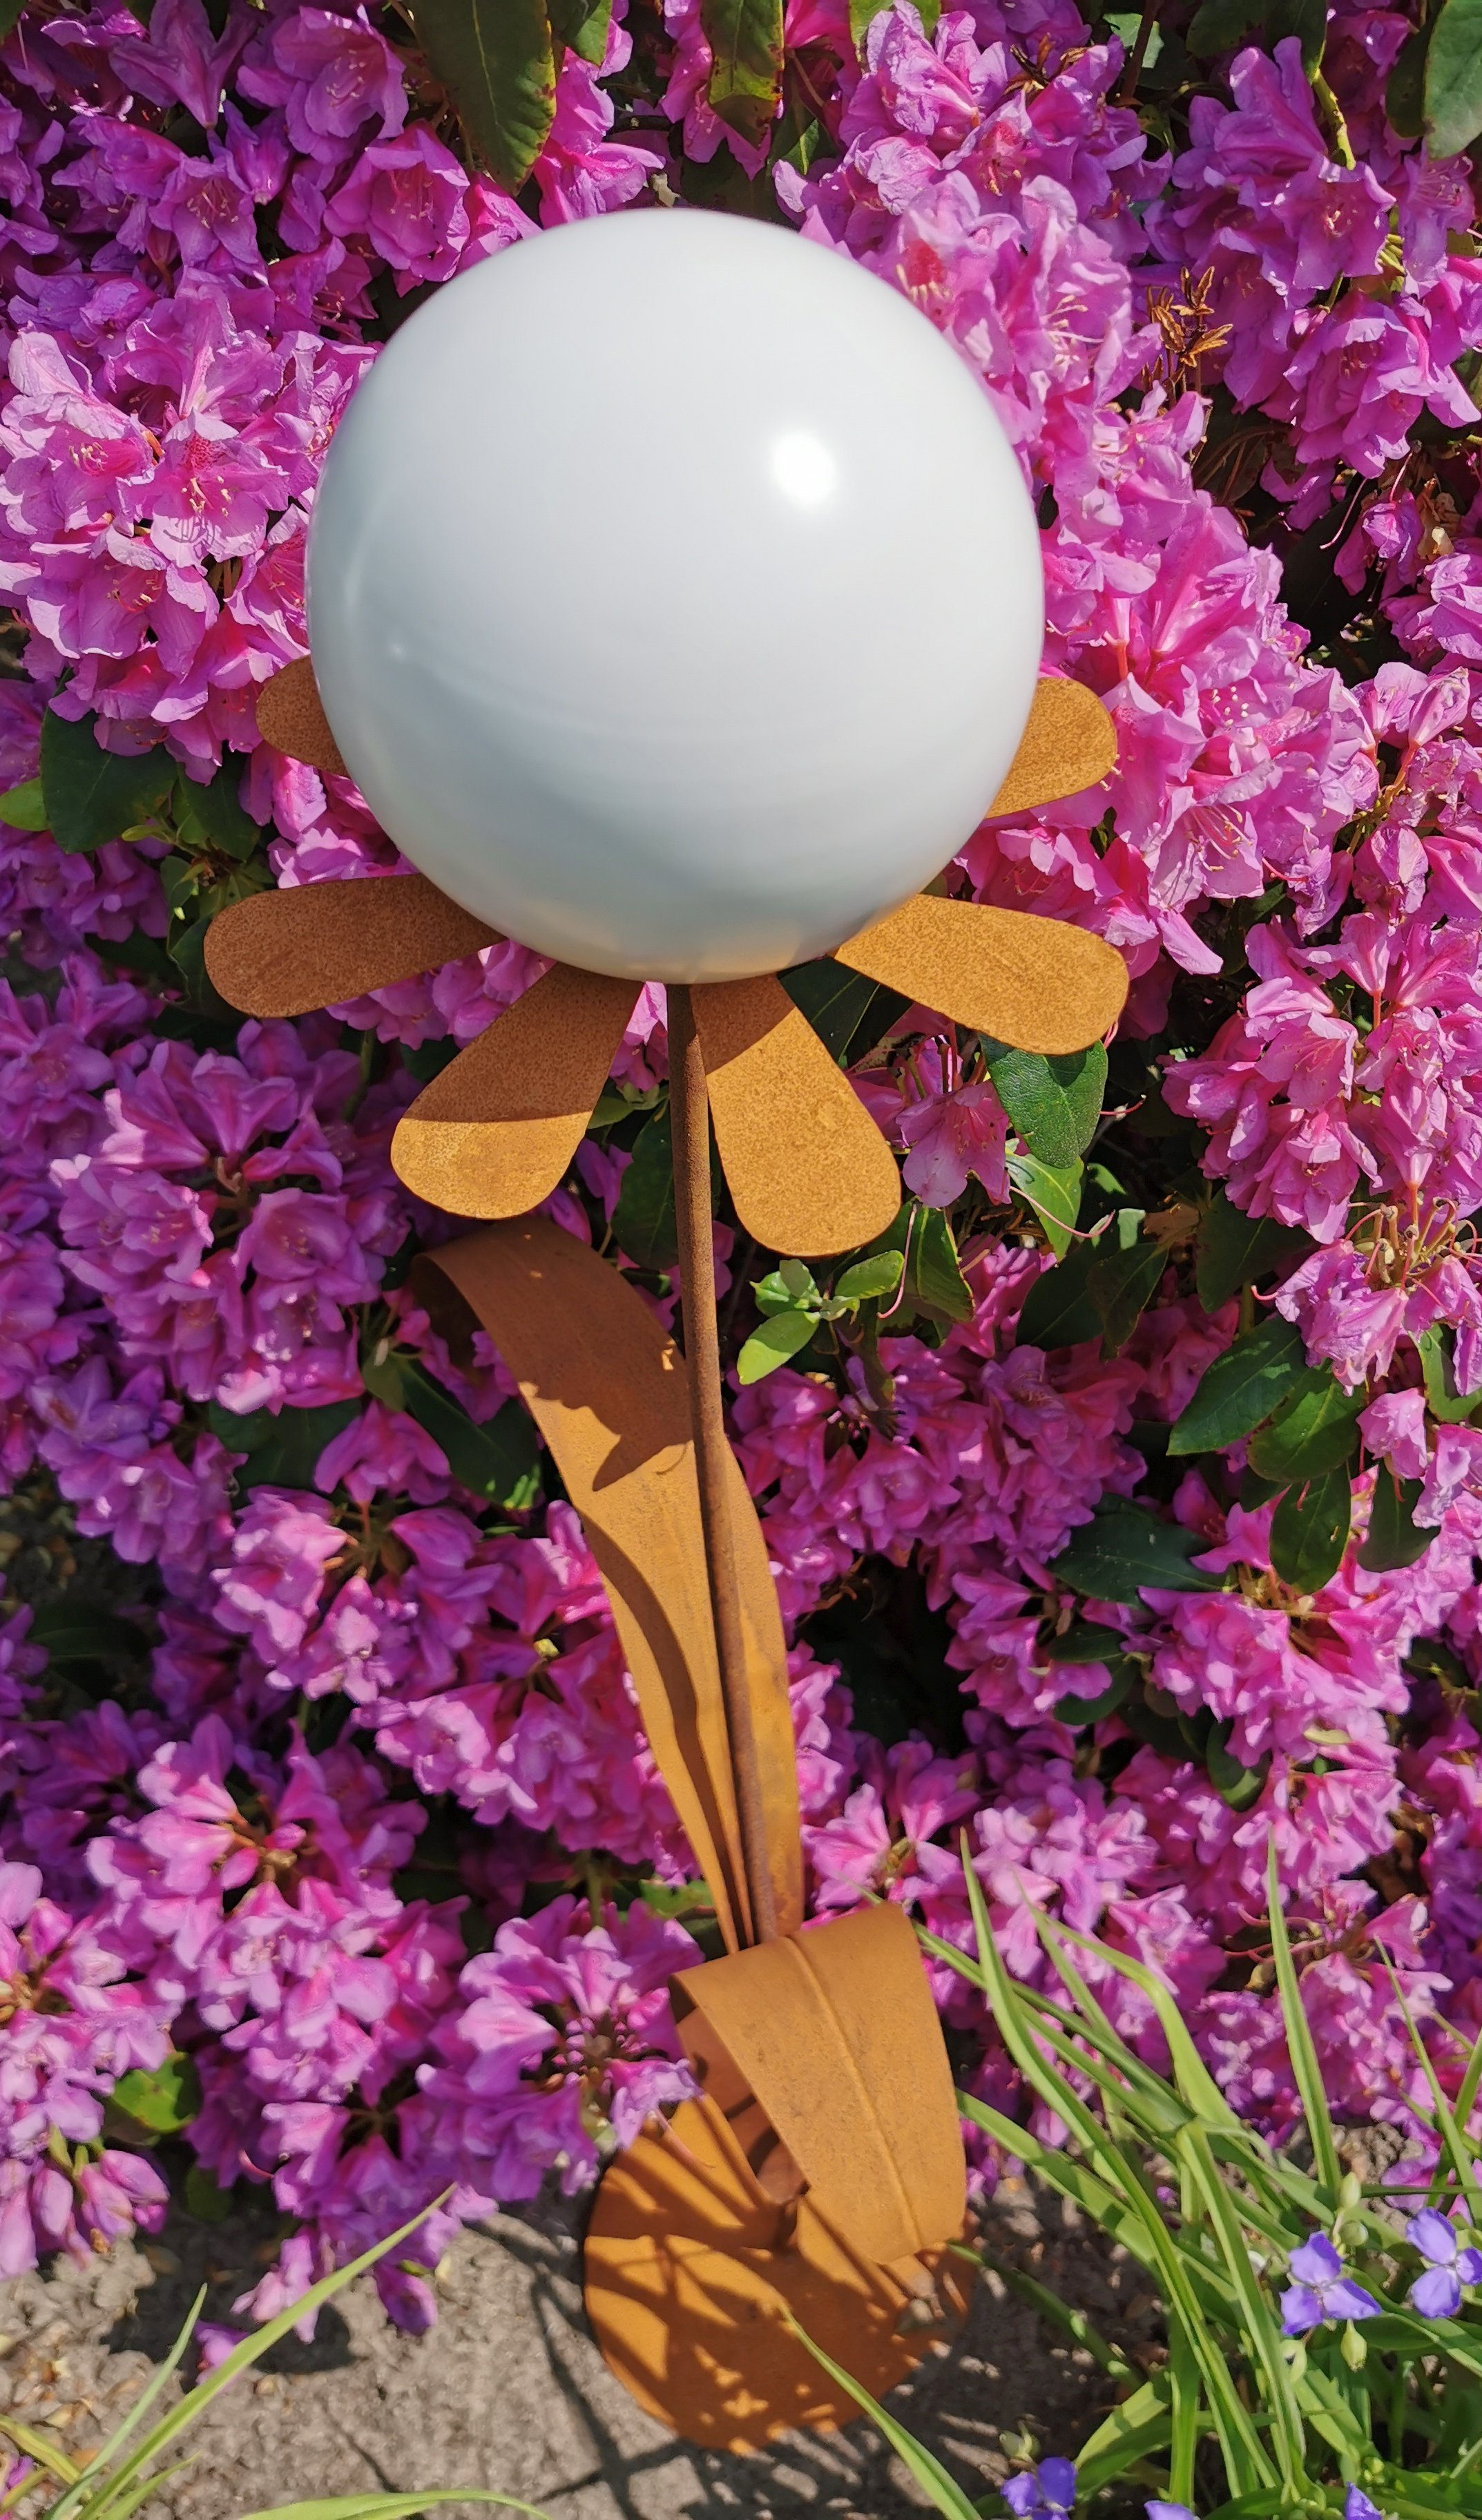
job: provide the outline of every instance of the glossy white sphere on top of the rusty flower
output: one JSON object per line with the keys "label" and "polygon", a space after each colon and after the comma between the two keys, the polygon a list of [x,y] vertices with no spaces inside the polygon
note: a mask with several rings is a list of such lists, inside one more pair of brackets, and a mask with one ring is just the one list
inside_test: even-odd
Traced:
{"label": "glossy white sphere on top of the rusty flower", "polygon": [[307,572],[325,716],[406,857],[633,980],[779,970],[930,882],[1043,635],[958,353],[718,212],[557,227],[418,307],[335,431]]}

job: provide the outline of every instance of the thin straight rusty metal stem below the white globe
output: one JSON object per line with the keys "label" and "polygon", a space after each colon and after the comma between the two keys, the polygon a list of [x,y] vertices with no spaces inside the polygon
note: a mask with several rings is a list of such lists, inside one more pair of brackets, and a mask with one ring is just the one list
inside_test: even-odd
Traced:
{"label": "thin straight rusty metal stem below the white globe", "polygon": [[721,1399],[721,1333],[716,1323],[716,1250],[711,1240],[711,1099],[706,1063],[696,1033],[691,993],[678,980],[668,988],[668,1101],[673,1124],[673,1207],[683,1278],[686,1373],[691,1386],[691,1426],[696,1436],[696,1474],[701,1484],[701,1530],[706,1537],[706,1575],[711,1580],[711,1618],[721,1698],[731,1736],[731,1774],[741,1819],[741,1855],[751,1900],[751,1930],[759,1943],[776,1940],[776,1900],[766,1862],[766,1809],[751,1691],[746,1683],[746,1635],[736,1585],[736,1547],[731,1532],[731,1439]]}

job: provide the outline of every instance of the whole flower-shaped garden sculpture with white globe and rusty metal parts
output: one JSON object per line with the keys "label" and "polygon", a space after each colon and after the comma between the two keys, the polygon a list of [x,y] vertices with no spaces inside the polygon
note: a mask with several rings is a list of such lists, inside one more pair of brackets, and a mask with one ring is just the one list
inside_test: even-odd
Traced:
{"label": "whole flower-shaped garden sculpture with white globe and rusty metal parts", "polygon": [[[663,461],[658,388],[698,396],[668,413]],[[847,673],[832,716],[817,718],[817,696],[799,713],[789,673],[721,630],[663,658],[602,630],[582,648],[562,575],[577,562],[552,524],[572,449],[552,433],[597,408],[630,466],[658,461],[670,491],[673,449],[703,444],[708,489],[691,489],[738,554],[791,537],[812,638],[829,630],[829,592],[847,607],[880,570],[922,638],[933,595],[950,640],[895,663],[900,728],[880,733],[882,701]],[[882,527],[849,496],[852,469],[885,501]],[[943,575],[948,491],[960,544]],[[766,592],[779,552],[754,557]],[[781,648],[784,630],[771,622]],[[1028,811],[1112,769],[1101,703],[1036,683],[1038,638],[1018,469],[980,388],[905,300],[751,222],[547,234],[439,292],[360,388],[315,507],[313,663],[287,665],[257,708],[282,753],[353,776],[423,872],[252,895],[207,942],[219,993],[257,1016],[338,1005],[502,935],[557,955],[413,1101],[393,1164],[431,1205],[489,1220],[423,1255],[413,1283],[451,1338],[489,1331],[582,1515],[726,1945],[675,1978],[703,2099],[607,2170],[587,2238],[607,2361],[718,2447],[854,2412],[781,2303],[875,2391],[910,2369],[933,2321],[960,2311],[943,2248],[963,2230],[965,2177],[905,1913],[804,1930],[781,1613],[723,1429],[708,1139],[713,1126],[741,1225],[769,1250],[854,1250],[897,1215],[890,1147],[781,988],[784,963],[832,953],[1028,1051],[1086,1048],[1117,1021],[1127,973],[1099,937],[910,897],[985,801]],[[864,774],[839,753],[839,718]],[[749,832],[771,834],[759,862],[736,854]],[[668,988],[683,1366],[618,1270],[532,1215],[575,1157],[645,975]]]}

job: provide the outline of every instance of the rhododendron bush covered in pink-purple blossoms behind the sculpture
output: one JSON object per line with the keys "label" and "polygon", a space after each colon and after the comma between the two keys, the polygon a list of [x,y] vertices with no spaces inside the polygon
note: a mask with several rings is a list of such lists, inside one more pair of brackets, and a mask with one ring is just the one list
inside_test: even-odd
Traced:
{"label": "rhododendron bush covered in pink-purple blossoms behind the sculpture", "polygon": [[[900,1149],[905,1270],[834,1298],[859,1255],[716,1227],[812,1908],[965,1950],[965,1842],[1016,1976],[1048,1983],[1038,1918],[1094,1928],[1280,2137],[1275,1840],[1338,2114],[1434,2147],[1406,2008],[1449,2092],[1482,2029],[1474,179],[1386,118],[1401,10],[1341,0],[1321,68],[1210,15],[1129,63],[1074,0],[789,0],[738,98],[698,0],[565,10],[514,192],[393,10],[5,38],[0,2271],[154,2228],[179,2170],[290,2218],[267,2316],[451,2190],[378,2268],[421,2326],[459,2218],[691,2089],[665,1981],[706,1893],[509,1376],[408,1295],[459,1225],[388,1164],[539,965],[242,1023],[202,963],[224,902],[396,864],[255,728],[378,345],[537,224],[675,199],[852,255],[960,350],[1038,501],[1046,663],[1122,746],[950,869],[1124,953],[1109,1053],[804,970]],[[686,519],[635,532],[683,585]],[[892,638],[880,587],[882,708]],[[650,988],[549,1205],[668,1318],[665,1167]],[[930,1966],[963,2087],[1054,2134]]]}

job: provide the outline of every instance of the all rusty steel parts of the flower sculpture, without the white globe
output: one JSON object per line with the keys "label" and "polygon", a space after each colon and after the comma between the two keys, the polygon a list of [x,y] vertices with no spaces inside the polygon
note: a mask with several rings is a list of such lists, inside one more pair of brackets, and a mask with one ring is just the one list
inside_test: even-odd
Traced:
{"label": "all rusty steel parts of the flower sculpture, without the white globe", "polygon": [[[282,751],[340,769],[307,660],[265,685],[260,726]],[[1114,753],[1101,703],[1041,680],[996,809],[1091,786]],[[207,960],[232,1003],[305,1013],[486,942],[489,927],[413,874],[255,895],[217,917]],[[1046,1053],[1096,1041],[1127,995],[1101,937],[935,895],[849,937],[837,960]],[[766,1250],[854,1250],[892,1222],[900,1184],[870,1111],[776,975],[675,983],[681,1358],[615,1268],[527,1212],[565,1179],[635,995],[633,980],[554,963],[423,1089],[393,1164],[423,1200],[497,1220],[423,1255],[413,1285],[454,1346],[484,1326],[537,1419],[726,1943],[673,1988],[706,2097],[607,2170],[587,2308],[640,2404],[696,2442],[746,2449],[854,2414],[784,2303],[877,2397],[960,2316],[965,2268],[940,2250],[963,2230],[965,2167],[905,1913],[801,1928],[786,1646],[723,1426],[711,1114],[741,1225]]]}

